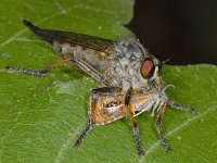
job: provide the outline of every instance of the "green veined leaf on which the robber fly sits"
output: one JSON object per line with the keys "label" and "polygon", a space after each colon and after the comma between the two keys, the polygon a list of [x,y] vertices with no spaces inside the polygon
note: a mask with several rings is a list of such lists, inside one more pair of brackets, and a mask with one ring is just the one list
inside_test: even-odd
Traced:
{"label": "green veined leaf on which the robber fly sits", "polygon": [[128,120],[95,127],[79,150],[72,148],[87,125],[95,82],[72,65],[46,77],[4,71],[7,65],[41,70],[60,59],[22,20],[46,28],[108,39],[132,34],[132,0],[24,1],[0,3],[0,162],[213,162],[217,160],[217,68],[165,66],[163,77],[176,102],[199,114],[167,110],[163,128],[173,151],[165,154],[149,113],[136,117],[146,155],[137,156]]}

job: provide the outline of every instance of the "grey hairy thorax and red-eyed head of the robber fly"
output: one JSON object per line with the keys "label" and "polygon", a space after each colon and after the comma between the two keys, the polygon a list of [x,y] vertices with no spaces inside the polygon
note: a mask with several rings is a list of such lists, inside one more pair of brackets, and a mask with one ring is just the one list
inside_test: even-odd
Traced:
{"label": "grey hairy thorax and red-eyed head of the robber fly", "polygon": [[112,85],[124,91],[132,87],[140,90],[158,76],[159,61],[150,54],[136,39],[123,40],[114,45],[111,64]]}

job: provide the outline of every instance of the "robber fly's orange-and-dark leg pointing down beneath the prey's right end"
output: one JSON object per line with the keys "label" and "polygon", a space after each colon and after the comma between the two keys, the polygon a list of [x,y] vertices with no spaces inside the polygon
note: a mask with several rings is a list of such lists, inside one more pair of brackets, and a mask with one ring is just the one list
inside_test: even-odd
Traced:
{"label": "robber fly's orange-and-dark leg pointing down beneath the prey's right end", "polygon": [[163,143],[164,147],[165,147],[165,151],[168,152],[168,151],[171,150],[171,149],[170,149],[169,145],[168,145],[168,143],[166,142],[166,140],[165,140],[164,134],[163,134],[163,131],[162,131],[162,126],[161,126],[162,120],[163,120],[164,114],[165,114],[165,111],[166,111],[166,106],[167,106],[167,104],[165,103],[165,104],[163,105],[163,108],[162,108],[162,110],[161,110],[158,116],[157,116],[157,120],[156,120],[156,131],[158,133],[159,139],[161,139],[162,143]]}

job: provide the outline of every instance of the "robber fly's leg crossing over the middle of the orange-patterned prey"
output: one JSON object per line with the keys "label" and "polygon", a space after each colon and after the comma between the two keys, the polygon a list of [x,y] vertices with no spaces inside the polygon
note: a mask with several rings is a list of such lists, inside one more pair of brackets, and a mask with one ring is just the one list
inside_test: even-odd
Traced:
{"label": "robber fly's leg crossing over the middle of the orange-patterned prey", "polygon": [[131,95],[132,95],[132,89],[129,89],[126,93],[126,97],[125,97],[125,112],[127,114],[127,116],[129,117],[131,124],[132,124],[132,131],[133,131],[133,138],[135,138],[135,141],[136,141],[136,146],[137,146],[137,150],[138,150],[138,154],[139,155],[142,155],[144,154],[143,153],[143,150],[140,146],[140,138],[139,138],[139,128],[138,128],[138,125],[137,125],[137,122],[135,121],[131,112],[130,112],[130,99],[131,99]]}

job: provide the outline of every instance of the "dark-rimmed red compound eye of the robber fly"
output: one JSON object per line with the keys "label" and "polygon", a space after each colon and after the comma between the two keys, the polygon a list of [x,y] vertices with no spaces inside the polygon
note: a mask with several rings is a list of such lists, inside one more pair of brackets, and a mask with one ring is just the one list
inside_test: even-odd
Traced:
{"label": "dark-rimmed red compound eye of the robber fly", "polygon": [[155,66],[152,59],[148,58],[143,61],[141,66],[141,74],[143,78],[150,78],[154,73]]}

